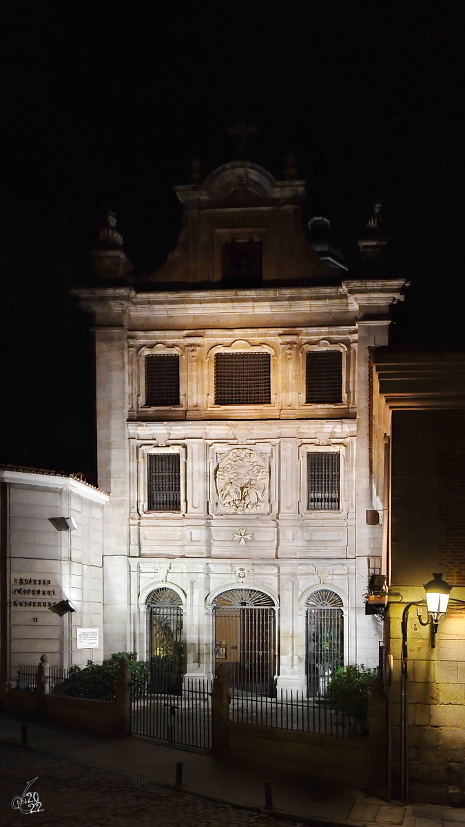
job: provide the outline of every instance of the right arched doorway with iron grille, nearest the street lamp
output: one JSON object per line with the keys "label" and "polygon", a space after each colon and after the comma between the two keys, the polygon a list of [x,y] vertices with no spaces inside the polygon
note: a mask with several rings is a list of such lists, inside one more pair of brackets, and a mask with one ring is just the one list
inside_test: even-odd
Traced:
{"label": "right arched doorway with iron grille, nearest the street lamp", "polygon": [[334,591],[318,589],[307,598],[307,691],[326,694],[331,677],[343,666],[343,601]]}

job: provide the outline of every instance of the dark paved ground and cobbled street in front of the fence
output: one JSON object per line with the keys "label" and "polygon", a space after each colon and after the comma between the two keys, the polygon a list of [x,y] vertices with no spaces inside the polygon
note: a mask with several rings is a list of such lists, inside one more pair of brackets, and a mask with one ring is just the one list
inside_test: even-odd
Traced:
{"label": "dark paved ground and cobbled street in front of the fence", "polygon": [[[21,724],[27,724],[28,739],[25,749],[17,748],[21,739]],[[15,745],[16,748],[14,748]],[[12,715],[4,712],[0,714],[0,747],[2,747],[3,760],[5,760],[4,750],[10,749],[10,752],[22,755],[22,762],[26,761],[26,758],[28,761],[27,766],[24,767],[19,762],[14,776],[7,777],[8,789],[5,787],[5,781],[2,782],[2,804],[7,801],[10,810],[9,820],[7,821],[4,820],[4,811],[2,812],[3,818],[0,820],[2,825],[17,824],[17,820],[22,818],[20,813],[11,809],[10,802],[13,796],[21,795],[24,786],[31,778],[38,776],[35,788],[41,793],[41,787],[44,789],[44,782],[48,779],[48,784],[50,778],[53,780],[55,777],[55,781],[50,782],[50,784],[56,791],[63,773],[65,773],[63,777],[66,777],[66,772],[71,772],[74,781],[77,783],[80,779],[84,784],[84,788],[82,784],[81,786],[78,785],[73,793],[66,787],[63,791],[64,801],[69,801],[71,806],[73,796],[74,802],[76,801],[78,788],[80,796],[83,789],[87,789],[86,785],[90,779],[93,785],[93,805],[87,807],[84,820],[81,819],[79,812],[75,810],[73,815],[70,815],[70,818],[74,818],[74,821],[70,820],[69,822],[60,820],[58,817],[56,820],[50,820],[50,818],[55,819],[55,812],[50,813],[49,806],[47,824],[63,825],[65,827],[65,824],[68,825],[68,823],[70,825],[84,825],[85,823],[97,827],[99,824],[107,825],[109,823],[115,824],[117,827],[122,827],[122,825],[125,825],[125,827],[126,825],[142,827],[142,825],[153,823],[157,827],[159,825],[161,827],[165,824],[177,825],[179,823],[183,827],[191,827],[191,825],[199,823],[203,825],[257,824],[268,827],[269,824],[276,825],[276,820],[279,823],[280,820],[283,820],[283,824],[291,825],[292,821],[285,822],[285,818],[293,817],[295,823],[314,821],[320,825],[324,822],[337,822],[339,824],[358,825],[358,827],[362,827],[362,825],[373,825],[373,827],[375,825],[376,827],[382,827],[382,825],[460,827],[460,823],[462,823],[465,827],[465,809],[441,805],[403,806],[395,802],[387,804],[386,801],[367,796],[362,791],[345,786],[343,779],[341,779],[340,784],[324,782],[312,777],[302,777],[293,772],[272,770],[228,758],[213,758],[209,753],[196,753],[169,747],[152,739],[142,739],[136,736],[118,739],[95,735],[78,728],[60,728],[56,724],[48,723],[38,724],[35,719],[28,719],[26,715]],[[50,763],[53,759],[62,763],[53,765],[55,768],[50,768],[51,765],[49,766],[47,762]],[[65,772],[63,762],[73,764],[74,769],[72,771],[68,769]],[[177,762],[183,764],[182,792],[170,789],[170,787],[174,787],[175,765]],[[111,783],[108,778],[95,776],[93,773],[97,771],[107,775],[108,773],[112,774]],[[25,772],[26,777],[24,777]],[[114,781],[115,773],[117,773],[117,782]],[[2,772],[2,776],[5,777],[5,772]],[[135,779],[138,780],[135,781]],[[16,784],[14,789],[13,780]],[[264,781],[270,781],[272,785],[275,820],[263,811],[265,805]],[[65,784],[65,782],[63,783]],[[110,798],[108,798],[109,794],[106,792],[108,783],[110,783],[110,786],[113,784],[113,792]],[[19,787],[17,789],[18,785],[23,785],[21,790],[19,790]],[[155,793],[149,791],[149,787],[151,788],[153,785],[157,785],[160,789],[165,787],[163,795],[165,801],[170,801],[170,806],[166,805],[170,812],[166,812],[163,817],[164,820],[160,820],[161,812],[153,810],[152,821],[140,820],[139,813],[143,812],[144,818],[146,816],[148,818],[147,814],[153,805]],[[161,795],[160,789],[156,793],[157,796]],[[99,791],[103,796],[102,805],[98,805],[95,801],[95,796],[100,795]],[[189,799],[189,794],[204,796],[205,799],[210,800],[209,806],[213,806],[212,801],[225,802],[232,806],[232,810],[228,810],[228,815],[224,815],[222,811],[220,818],[219,811],[215,815],[214,808],[207,812],[207,807],[205,812],[199,810],[199,813],[194,817],[194,813],[190,811],[189,814],[186,814],[185,804],[182,806],[180,804],[182,796],[187,795]],[[8,796],[10,797],[8,798]],[[105,798],[105,796],[107,797]],[[147,799],[144,796],[149,796],[149,798]],[[41,797],[45,807],[44,799],[45,792]],[[119,801],[119,804],[115,805],[115,813],[111,816],[108,810],[110,799],[111,801]],[[132,803],[128,804],[128,801]],[[175,801],[178,802],[176,805]],[[205,803],[205,806],[207,804],[208,802]],[[128,806],[130,810],[127,810]],[[237,809],[241,806],[252,808],[252,813],[250,810]],[[55,804],[52,804],[51,808],[54,807]],[[95,809],[95,807],[99,808],[100,815],[95,815],[97,820],[89,821],[90,810]],[[177,820],[176,807],[180,811],[179,821]],[[200,809],[202,808],[200,807]],[[11,820],[12,815],[16,816],[16,820]],[[37,813],[35,815],[36,819],[41,817],[41,814]],[[115,820],[122,817],[125,820]],[[103,820],[98,821],[98,818]],[[251,818],[255,820],[250,821]],[[263,821],[263,818],[266,821]],[[299,822],[300,819],[302,819],[302,822]]]}

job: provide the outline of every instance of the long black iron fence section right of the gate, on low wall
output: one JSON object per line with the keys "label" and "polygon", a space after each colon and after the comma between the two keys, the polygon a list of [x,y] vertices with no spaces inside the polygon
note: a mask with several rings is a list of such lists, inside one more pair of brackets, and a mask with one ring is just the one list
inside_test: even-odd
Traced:
{"label": "long black iron fence section right of the gate, on low wall", "polygon": [[366,711],[359,704],[336,708],[327,697],[305,696],[295,690],[281,691],[276,698],[236,692],[231,698],[229,719],[338,738],[362,739],[367,734]]}

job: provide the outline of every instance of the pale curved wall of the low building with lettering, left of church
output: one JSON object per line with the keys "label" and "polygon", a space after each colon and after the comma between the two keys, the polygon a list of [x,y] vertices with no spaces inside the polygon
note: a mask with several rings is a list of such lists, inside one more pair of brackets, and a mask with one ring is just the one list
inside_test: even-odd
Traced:
{"label": "pale curved wall of the low building with lettering, left of church", "polygon": [[[103,657],[103,505],[108,495],[78,480],[2,470],[2,680],[20,664],[85,665]],[[51,519],[72,518],[70,531]],[[50,607],[70,600],[60,618]],[[76,629],[98,629],[99,648],[78,649]]]}

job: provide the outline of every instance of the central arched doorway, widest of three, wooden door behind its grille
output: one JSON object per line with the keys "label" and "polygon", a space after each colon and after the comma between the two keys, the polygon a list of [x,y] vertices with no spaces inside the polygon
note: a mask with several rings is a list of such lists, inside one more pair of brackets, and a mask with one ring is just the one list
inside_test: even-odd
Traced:
{"label": "central arched doorway, widest of three, wooden door behind its grille", "polygon": [[276,669],[276,609],[254,589],[223,591],[213,602],[215,668],[222,663],[231,691],[271,695]]}

